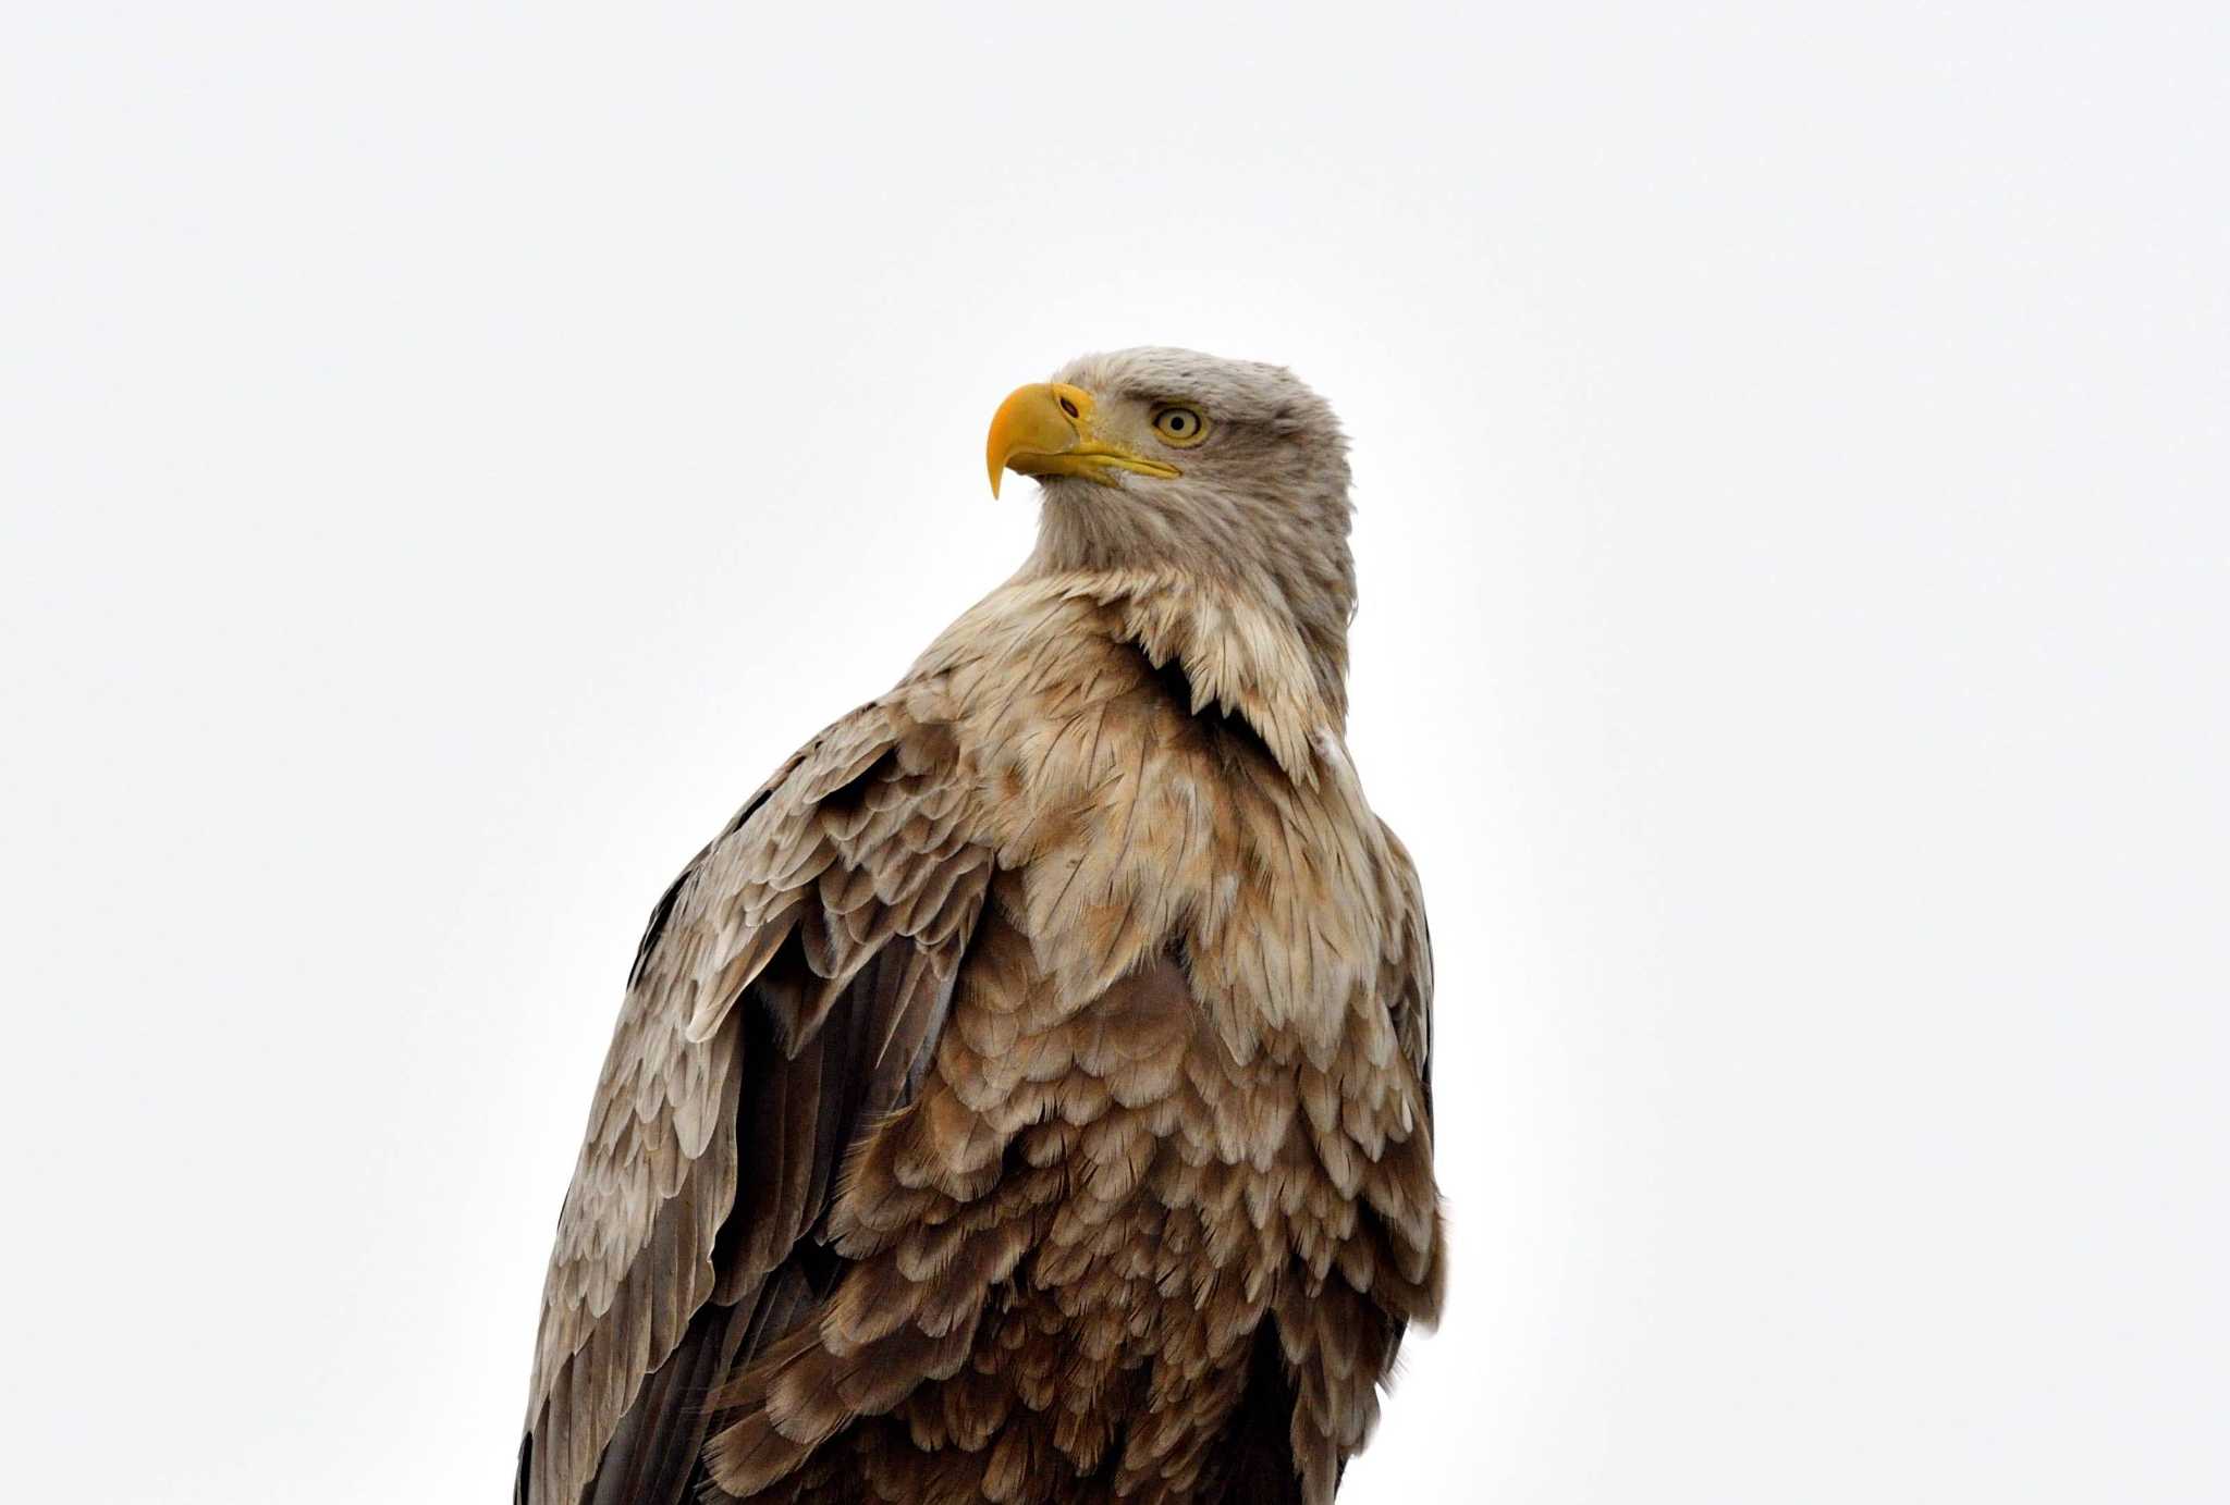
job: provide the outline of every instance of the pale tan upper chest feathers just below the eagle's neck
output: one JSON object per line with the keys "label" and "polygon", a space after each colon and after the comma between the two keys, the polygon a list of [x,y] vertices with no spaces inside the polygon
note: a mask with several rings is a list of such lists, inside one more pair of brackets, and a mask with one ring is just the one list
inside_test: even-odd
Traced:
{"label": "pale tan upper chest feathers just below the eagle's neck", "polygon": [[1175,952],[1231,1055],[1284,1043],[1322,1064],[1367,1026],[1389,907],[1385,838],[1336,736],[1296,754],[1276,707],[1204,698],[1124,640],[1073,633],[1030,664],[961,676],[954,700],[977,709],[950,731],[1053,992],[1082,1010]]}

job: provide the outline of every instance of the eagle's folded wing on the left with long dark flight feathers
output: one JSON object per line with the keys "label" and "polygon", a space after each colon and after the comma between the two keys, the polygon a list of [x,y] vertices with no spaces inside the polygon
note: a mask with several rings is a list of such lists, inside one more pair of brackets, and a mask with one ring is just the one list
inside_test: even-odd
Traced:
{"label": "eagle's folded wing on the left with long dark flight feathers", "polygon": [[872,702],[651,912],[542,1293],[520,1505],[665,1505],[705,1396],[836,1271],[845,1148],[908,1101],[983,907],[943,727]]}

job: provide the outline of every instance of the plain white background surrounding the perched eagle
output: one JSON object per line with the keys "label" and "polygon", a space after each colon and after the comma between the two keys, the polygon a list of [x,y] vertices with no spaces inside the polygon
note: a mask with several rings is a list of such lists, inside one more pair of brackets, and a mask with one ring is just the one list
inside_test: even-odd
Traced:
{"label": "plain white background surrounding the perched eagle", "polygon": [[1144,341],[1356,439],[1456,1266],[1342,1498],[2226,1498],[2226,40],[9,4],[9,1498],[506,1498],[642,916]]}

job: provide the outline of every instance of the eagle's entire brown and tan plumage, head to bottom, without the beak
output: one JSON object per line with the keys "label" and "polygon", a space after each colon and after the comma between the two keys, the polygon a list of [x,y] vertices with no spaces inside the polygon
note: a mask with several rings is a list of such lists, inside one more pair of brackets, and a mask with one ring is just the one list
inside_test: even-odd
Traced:
{"label": "eagle's entire brown and tan plumage, head to bottom, without the beak", "polygon": [[1338,430],[1189,352],[1061,381],[1104,444],[1151,455],[1171,401],[1209,441],[1050,473],[1030,564],[660,901],[522,1501],[1322,1505],[1438,1309],[1432,961],[1342,740]]}

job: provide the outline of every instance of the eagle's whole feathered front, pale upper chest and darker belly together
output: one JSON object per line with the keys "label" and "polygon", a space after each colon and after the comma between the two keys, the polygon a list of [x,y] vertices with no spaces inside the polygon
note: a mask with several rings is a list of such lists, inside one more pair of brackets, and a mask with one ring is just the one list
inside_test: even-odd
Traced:
{"label": "eagle's whole feathered front, pale upper chest and darker belly together", "polygon": [[[1340,1365],[1327,1407],[1356,1376],[1347,1409],[1376,1405],[1356,1344],[1392,1340],[1356,1286],[1409,1115],[1383,1081],[1367,854],[1311,841],[1334,794],[1166,702],[1111,713],[1128,725],[1077,716],[1032,749],[1041,794],[1004,812],[1030,861],[990,885],[914,1104],[854,1157],[832,1208],[854,1273],[823,1331],[950,1333],[896,1407],[905,1456],[952,1449],[990,1480],[999,1438],[1017,1469],[1186,1498],[1264,1342],[1302,1373]],[[1064,796],[1046,763],[1070,740]],[[1351,1329],[1331,1356],[1327,1320]]]}

